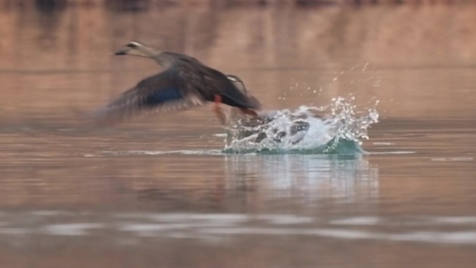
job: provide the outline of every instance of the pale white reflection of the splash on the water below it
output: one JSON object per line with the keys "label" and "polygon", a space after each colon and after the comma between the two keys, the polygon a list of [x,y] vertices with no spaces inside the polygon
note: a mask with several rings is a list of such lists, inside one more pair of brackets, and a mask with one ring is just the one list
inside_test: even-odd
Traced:
{"label": "pale white reflection of the splash on the water below it", "polygon": [[328,198],[358,203],[379,197],[378,168],[360,157],[226,155],[225,159],[227,187],[249,189],[248,184],[255,184],[255,191],[276,202],[290,198],[312,206]]}

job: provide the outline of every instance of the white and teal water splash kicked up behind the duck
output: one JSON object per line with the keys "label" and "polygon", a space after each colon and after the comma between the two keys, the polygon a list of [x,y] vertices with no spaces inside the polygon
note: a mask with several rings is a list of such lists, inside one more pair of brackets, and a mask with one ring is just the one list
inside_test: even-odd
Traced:
{"label": "white and teal water splash kicked up behind the duck", "polygon": [[[354,155],[377,123],[378,101],[358,111],[355,97],[337,97],[324,107],[301,106],[266,113],[260,120],[238,118],[227,128],[225,152]],[[325,116],[322,116],[325,115]]]}

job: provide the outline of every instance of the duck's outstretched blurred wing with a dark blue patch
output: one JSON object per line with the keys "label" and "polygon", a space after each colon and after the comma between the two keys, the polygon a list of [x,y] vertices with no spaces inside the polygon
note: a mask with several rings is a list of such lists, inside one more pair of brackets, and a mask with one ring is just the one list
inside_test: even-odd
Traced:
{"label": "duck's outstretched blurred wing with a dark blue patch", "polygon": [[96,123],[111,124],[144,111],[178,111],[204,103],[203,97],[189,88],[177,70],[168,69],[143,79],[117,100],[95,111],[90,118]]}

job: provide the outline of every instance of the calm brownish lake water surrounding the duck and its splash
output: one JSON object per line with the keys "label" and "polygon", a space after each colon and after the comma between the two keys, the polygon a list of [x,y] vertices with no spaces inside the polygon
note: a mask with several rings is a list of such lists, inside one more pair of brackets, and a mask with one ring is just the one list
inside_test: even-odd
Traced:
{"label": "calm brownish lake water surrounding the duck and its splash", "polygon": [[[474,5],[2,6],[1,266],[474,267],[475,25]],[[245,154],[209,106],[91,127],[159,72],[111,56],[129,40],[363,133]]]}

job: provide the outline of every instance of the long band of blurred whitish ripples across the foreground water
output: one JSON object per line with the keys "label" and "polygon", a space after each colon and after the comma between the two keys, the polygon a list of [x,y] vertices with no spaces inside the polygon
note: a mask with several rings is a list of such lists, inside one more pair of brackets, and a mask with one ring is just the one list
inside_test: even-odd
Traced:
{"label": "long band of blurred whitish ripples across the foreground water", "polygon": [[[476,244],[476,216],[340,216],[323,218],[296,214],[200,214],[200,213],[65,213],[61,210],[3,212],[0,239],[12,236],[54,235],[92,237],[97,232],[106,239],[124,244],[150,239],[203,239],[220,242],[242,239],[243,235],[328,237],[331,239],[370,239],[392,242]],[[58,215],[61,214],[61,218]],[[35,215],[37,221],[27,221]],[[96,221],[84,222],[86,219]],[[58,219],[67,221],[58,223]],[[48,223],[54,221],[54,223]],[[82,222],[81,222],[82,221]],[[385,228],[386,226],[411,228]],[[334,226],[334,228],[328,228]],[[365,226],[365,230],[361,228]],[[411,226],[411,227],[405,227]],[[454,231],[448,227],[459,228]],[[415,230],[418,229],[418,230]],[[386,230],[386,231],[382,231]],[[109,238],[107,238],[109,235]],[[104,238],[104,236],[103,236]],[[122,241],[122,242],[121,242]],[[127,244],[126,243],[126,244]]]}

